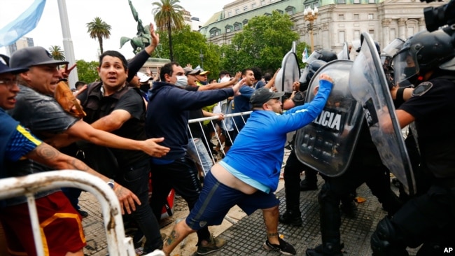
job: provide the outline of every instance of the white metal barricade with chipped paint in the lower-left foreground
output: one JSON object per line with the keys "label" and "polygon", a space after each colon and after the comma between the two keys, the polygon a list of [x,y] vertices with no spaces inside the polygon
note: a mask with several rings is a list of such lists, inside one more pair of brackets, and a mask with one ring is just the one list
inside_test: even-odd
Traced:
{"label": "white metal barricade with chipped paint in the lower-left foreground", "polygon": [[[0,199],[24,195],[27,197],[31,226],[38,256],[43,256],[44,251],[34,194],[36,192],[52,190],[59,187],[78,187],[81,190],[92,193],[94,197],[98,199],[103,213],[109,255],[136,255],[132,238],[125,236],[118,198],[111,187],[102,179],[85,173],[84,171],[76,170],[47,171],[18,178],[0,179]],[[148,254],[148,256],[164,255],[165,254],[162,251],[158,250]]]}

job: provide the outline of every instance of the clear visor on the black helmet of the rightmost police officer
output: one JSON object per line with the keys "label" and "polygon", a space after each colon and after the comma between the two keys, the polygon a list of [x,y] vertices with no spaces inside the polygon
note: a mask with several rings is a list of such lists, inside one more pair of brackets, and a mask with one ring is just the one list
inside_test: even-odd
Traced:
{"label": "clear visor on the black helmet of the rightmost police officer", "polygon": [[398,85],[419,73],[416,55],[409,48],[403,48],[393,57],[393,73]]}

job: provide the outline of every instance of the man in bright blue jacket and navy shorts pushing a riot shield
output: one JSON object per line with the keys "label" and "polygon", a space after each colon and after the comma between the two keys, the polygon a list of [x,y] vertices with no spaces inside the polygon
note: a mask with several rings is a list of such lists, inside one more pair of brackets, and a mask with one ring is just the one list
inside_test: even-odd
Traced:
{"label": "man in bright blue jacket and navy shorts pushing a riot shield", "polygon": [[188,234],[207,225],[220,225],[236,204],[248,215],[262,209],[267,229],[266,250],[295,255],[293,246],[279,237],[279,199],[274,195],[283,162],[286,134],[304,127],[321,113],[332,83],[332,78],[322,74],[318,94],[313,101],[286,113],[282,113],[279,100],[283,92],[260,88],[251,95],[253,113],[228,155],[207,173],[199,200],[186,221],[174,226],[163,248],[167,255]]}

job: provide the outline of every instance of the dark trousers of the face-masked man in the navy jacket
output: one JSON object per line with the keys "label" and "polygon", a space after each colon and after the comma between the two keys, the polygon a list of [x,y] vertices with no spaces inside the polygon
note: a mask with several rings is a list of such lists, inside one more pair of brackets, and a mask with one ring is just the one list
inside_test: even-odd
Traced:
{"label": "dark trousers of the face-masked man in the navy jacket", "polygon": [[[172,188],[180,194],[193,209],[202,190],[200,180],[197,178],[195,163],[189,157],[176,159],[171,164],[152,164],[152,199],[151,208],[157,219],[161,216],[162,206],[165,205],[167,195]],[[208,227],[197,231],[198,244],[200,241],[209,241]]]}

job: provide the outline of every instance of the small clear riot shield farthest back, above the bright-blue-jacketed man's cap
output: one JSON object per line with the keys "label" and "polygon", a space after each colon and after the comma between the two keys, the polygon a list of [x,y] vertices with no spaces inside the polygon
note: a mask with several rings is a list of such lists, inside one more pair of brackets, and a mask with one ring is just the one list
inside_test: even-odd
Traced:
{"label": "small clear riot shield farthest back, above the bright-blue-jacketed man's cap", "polygon": [[295,42],[292,49],[284,55],[281,69],[275,78],[275,87],[279,92],[292,92],[293,83],[300,78],[300,66],[295,55]]}

